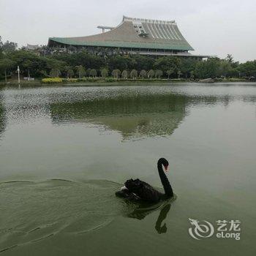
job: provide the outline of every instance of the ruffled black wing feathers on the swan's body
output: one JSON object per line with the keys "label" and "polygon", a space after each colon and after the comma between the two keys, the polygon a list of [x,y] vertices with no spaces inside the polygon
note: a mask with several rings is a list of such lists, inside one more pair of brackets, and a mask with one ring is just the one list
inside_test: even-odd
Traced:
{"label": "ruffled black wing feathers on the swan's body", "polygon": [[142,200],[158,202],[162,197],[162,193],[158,192],[154,187],[151,187],[151,185],[146,182],[140,181],[138,178],[135,180],[131,178],[127,180],[124,185],[127,187],[129,193],[135,194]]}

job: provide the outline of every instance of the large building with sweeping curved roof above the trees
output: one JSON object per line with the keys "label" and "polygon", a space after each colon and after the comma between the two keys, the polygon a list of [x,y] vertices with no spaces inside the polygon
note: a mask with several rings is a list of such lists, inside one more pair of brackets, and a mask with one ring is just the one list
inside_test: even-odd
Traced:
{"label": "large building with sweeping curved roof above the trees", "polygon": [[[150,56],[184,56],[208,58],[192,55],[194,50],[179,31],[174,20],[149,20],[124,16],[116,27],[98,26],[101,34],[87,37],[50,37],[48,46],[61,48],[105,49],[109,52]],[[105,31],[108,30],[108,31]]]}

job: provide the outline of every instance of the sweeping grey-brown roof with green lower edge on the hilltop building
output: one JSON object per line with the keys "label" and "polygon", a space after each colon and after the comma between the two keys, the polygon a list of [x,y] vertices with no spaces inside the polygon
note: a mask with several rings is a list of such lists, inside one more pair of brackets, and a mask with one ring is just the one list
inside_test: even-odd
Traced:
{"label": "sweeping grey-brown roof with green lower edge on the hilltop building", "polygon": [[149,20],[124,16],[122,22],[101,34],[87,37],[50,37],[51,45],[194,50],[174,20]]}

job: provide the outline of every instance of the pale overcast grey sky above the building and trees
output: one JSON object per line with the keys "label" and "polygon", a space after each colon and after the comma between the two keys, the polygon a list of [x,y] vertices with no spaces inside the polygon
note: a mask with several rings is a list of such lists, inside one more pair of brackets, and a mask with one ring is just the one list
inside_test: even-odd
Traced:
{"label": "pale overcast grey sky above the building and trees", "polygon": [[123,15],[176,20],[194,54],[256,59],[256,0],[0,0],[0,36],[19,46],[97,34]]}

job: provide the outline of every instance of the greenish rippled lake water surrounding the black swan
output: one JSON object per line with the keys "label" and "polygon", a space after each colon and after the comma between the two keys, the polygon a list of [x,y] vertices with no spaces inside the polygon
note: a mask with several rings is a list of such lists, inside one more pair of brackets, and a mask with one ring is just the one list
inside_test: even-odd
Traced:
{"label": "greenish rippled lake water surrounding the black swan", "polygon": [[[0,89],[1,255],[255,255],[256,84]],[[176,200],[117,198],[127,178]],[[240,220],[241,239],[189,236]]]}

